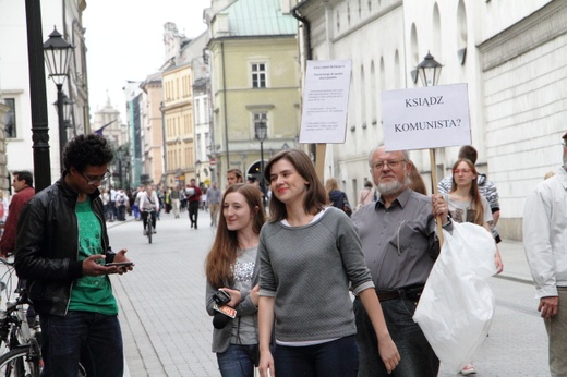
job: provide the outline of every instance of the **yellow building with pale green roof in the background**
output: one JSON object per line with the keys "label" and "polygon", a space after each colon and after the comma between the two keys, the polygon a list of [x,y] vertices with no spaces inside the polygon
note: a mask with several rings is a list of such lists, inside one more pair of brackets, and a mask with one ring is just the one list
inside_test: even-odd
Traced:
{"label": "yellow building with pale green roof in the background", "polygon": [[[208,20],[217,180],[240,169],[261,178],[261,158],[292,145],[299,132],[297,21],[279,0],[239,0]],[[257,139],[256,126],[267,126]],[[261,150],[263,149],[263,150]],[[262,153],[265,151],[265,153]],[[261,156],[264,155],[264,156]]]}

